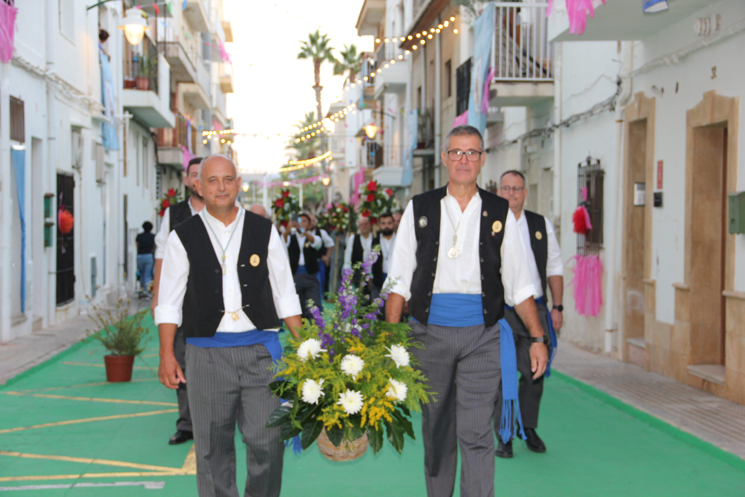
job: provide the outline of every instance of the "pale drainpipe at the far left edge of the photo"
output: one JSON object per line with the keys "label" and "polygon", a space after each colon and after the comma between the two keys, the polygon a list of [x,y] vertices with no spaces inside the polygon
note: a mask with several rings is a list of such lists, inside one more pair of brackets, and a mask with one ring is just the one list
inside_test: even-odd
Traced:
{"label": "pale drainpipe at the far left edge of the photo", "polygon": [[1,64],[0,82],[0,261],[2,280],[0,284],[0,343],[10,341],[10,287],[13,270],[10,269],[10,241],[13,239],[13,181],[10,178],[10,64]]}

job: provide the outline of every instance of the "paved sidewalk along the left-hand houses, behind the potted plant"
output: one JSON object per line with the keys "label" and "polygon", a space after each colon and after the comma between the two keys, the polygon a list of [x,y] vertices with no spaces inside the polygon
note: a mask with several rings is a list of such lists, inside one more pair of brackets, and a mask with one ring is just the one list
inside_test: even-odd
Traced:
{"label": "paved sidewalk along the left-hand houses, behind the potted plant", "polygon": [[[131,300],[132,308],[140,310],[150,306],[150,300]],[[64,323],[0,344],[0,384],[5,384],[31,367],[54,357],[86,338],[86,329],[93,327],[87,315],[79,315]]]}

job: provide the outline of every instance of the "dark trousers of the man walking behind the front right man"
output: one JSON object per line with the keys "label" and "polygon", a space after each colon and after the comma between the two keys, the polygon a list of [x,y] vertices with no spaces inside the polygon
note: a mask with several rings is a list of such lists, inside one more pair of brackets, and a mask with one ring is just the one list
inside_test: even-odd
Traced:
{"label": "dark trousers of the man walking behind the front right man", "polygon": [[[548,310],[545,306],[538,308],[538,319],[541,322],[543,333],[548,339]],[[517,370],[520,372],[518,399],[520,400],[520,413],[524,428],[538,428],[538,411],[543,396],[543,378],[533,379],[530,371],[530,333],[527,331],[522,319],[517,312],[504,309],[504,319],[510,324],[515,338],[515,349],[517,352]],[[499,420],[502,415],[502,384],[499,383],[499,394],[494,405],[494,431],[499,432]]]}

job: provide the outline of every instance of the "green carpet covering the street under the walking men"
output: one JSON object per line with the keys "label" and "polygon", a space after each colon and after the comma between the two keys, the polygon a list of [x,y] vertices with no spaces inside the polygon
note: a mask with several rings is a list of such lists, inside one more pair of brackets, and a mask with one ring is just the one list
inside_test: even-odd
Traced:
{"label": "green carpet covering the street under the walking men", "polygon": [[[192,444],[167,443],[176,395],[156,379],[156,346],[152,335],[131,383],[107,384],[104,349],[88,340],[2,387],[0,492],[197,496]],[[745,496],[745,461],[568,376],[547,380],[539,428],[548,452],[517,441],[515,458],[496,460],[495,496]],[[238,433],[236,443],[242,489]],[[410,439],[403,455],[385,446],[347,463],[316,446],[288,449],[282,496],[425,496],[423,460],[421,441]]]}

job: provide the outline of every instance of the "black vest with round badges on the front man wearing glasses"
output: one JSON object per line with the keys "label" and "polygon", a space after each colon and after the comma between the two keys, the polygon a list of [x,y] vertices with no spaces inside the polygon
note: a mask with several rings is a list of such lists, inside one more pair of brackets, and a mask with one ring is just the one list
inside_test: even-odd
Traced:
{"label": "black vest with round badges on the front man wearing glasses", "polygon": [[[416,269],[411,281],[409,310],[423,324],[427,324],[429,319],[440,249],[440,200],[446,196],[447,188],[443,186],[425,191],[411,199],[416,235]],[[478,247],[481,259],[481,302],[484,306],[484,323],[486,326],[493,326],[504,315],[500,248],[510,203],[483,189],[478,189],[478,194],[481,195]]]}

